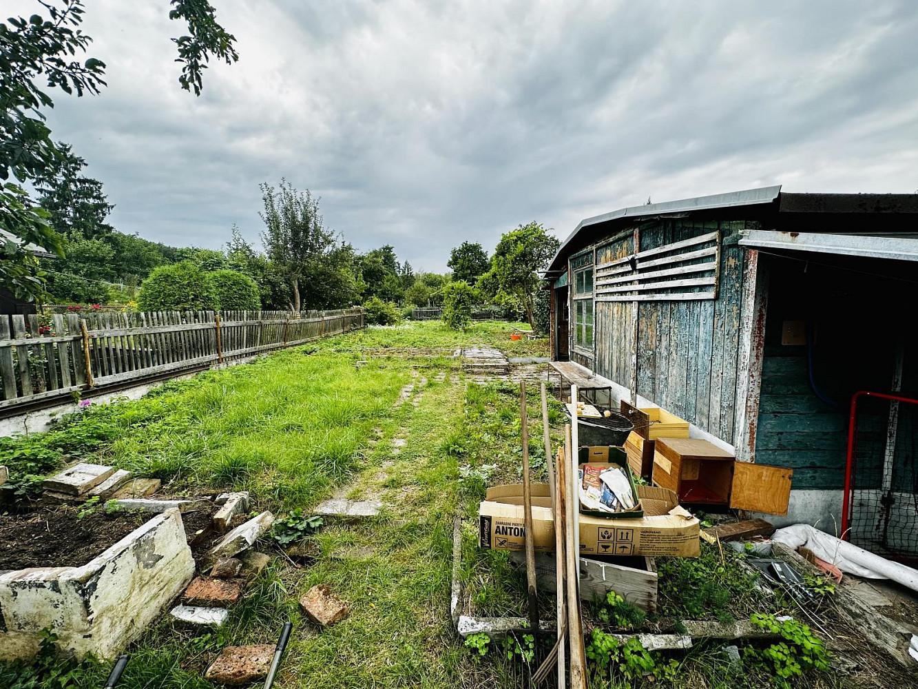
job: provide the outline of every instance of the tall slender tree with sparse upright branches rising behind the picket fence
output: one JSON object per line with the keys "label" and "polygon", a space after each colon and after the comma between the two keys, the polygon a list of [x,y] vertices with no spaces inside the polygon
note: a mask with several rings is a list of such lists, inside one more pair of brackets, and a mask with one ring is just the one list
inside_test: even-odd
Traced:
{"label": "tall slender tree with sparse upright branches rising behind the picket fence", "polygon": [[300,285],[319,271],[334,248],[334,234],[325,229],[319,215],[319,199],[307,189],[297,191],[285,179],[280,186],[261,185],[266,230],[262,243],[268,258],[293,292],[290,308],[300,311]]}

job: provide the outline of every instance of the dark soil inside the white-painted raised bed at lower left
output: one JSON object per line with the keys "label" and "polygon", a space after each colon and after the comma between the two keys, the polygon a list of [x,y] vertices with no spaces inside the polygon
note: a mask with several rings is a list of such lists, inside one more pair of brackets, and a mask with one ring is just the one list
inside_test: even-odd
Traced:
{"label": "dark soil inside the white-painted raised bed at lower left", "polygon": [[0,515],[0,571],[28,567],[81,567],[126,537],[151,514],[44,507]]}

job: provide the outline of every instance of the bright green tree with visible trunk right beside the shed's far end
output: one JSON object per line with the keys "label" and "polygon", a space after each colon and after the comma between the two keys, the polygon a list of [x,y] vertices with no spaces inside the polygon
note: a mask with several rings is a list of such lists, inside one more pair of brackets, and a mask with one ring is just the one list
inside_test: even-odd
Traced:
{"label": "bright green tree with visible trunk right beside the shed's far end", "polygon": [[478,288],[498,303],[519,301],[534,330],[533,296],[539,287],[535,271],[548,265],[558,246],[560,242],[545,232],[542,223],[520,225],[500,238],[490,269],[478,279]]}

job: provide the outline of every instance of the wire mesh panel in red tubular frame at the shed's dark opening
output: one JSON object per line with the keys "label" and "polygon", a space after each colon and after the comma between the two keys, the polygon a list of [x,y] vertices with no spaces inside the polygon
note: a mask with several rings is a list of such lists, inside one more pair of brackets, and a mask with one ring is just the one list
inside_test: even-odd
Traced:
{"label": "wire mesh panel in red tubular frame at the shed's dark opening", "polygon": [[856,546],[918,559],[918,400],[855,395],[843,522]]}

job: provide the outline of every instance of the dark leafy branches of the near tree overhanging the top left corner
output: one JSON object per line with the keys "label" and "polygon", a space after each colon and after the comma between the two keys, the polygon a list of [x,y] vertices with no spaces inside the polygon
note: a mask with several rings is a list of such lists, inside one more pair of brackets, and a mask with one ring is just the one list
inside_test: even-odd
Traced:
{"label": "dark leafy branches of the near tree overhanging the top left corner", "polygon": [[[0,287],[20,299],[44,295],[45,273],[28,251],[37,244],[62,254],[61,241],[50,224],[50,214],[36,208],[22,185],[51,175],[62,152],[50,138],[44,110],[53,107],[48,88],[83,96],[97,94],[106,85],[105,62],[76,55],[92,39],[79,26],[81,0],[37,0],[45,16],[10,17],[0,23]],[[185,22],[190,35],[174,39],[183,65],[179,83],[200,94],[206,62],[216,57],[238,59],[235,39],[215,19],[207,0],[172,0],[171,19]],[[47,87],[41,86],[41,82]],[[16,181],[11,181],[10,177]]]}

